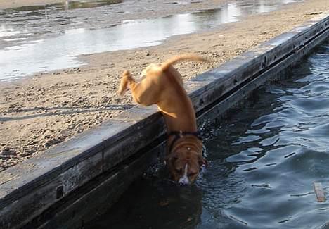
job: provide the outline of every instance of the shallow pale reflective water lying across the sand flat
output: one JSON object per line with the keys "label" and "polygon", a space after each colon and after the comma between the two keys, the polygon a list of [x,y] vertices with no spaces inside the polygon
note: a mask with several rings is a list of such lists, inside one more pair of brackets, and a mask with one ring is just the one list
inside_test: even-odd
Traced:
{"label": "shallow pale reflective water lying across the sand flat", "polygon": [[[0,80],[72,68],[77,56],[160,44],[174,35],[209,30],[241,16],[299,0],[228,1],[220,8],[146,20],[124,20],[124,1],[65,1],[0,11]],[[184,4],[179,1],[177,4]],[[102,7],[97,7],[102,6]],[[136,9],[135,9],[136,10]]]}

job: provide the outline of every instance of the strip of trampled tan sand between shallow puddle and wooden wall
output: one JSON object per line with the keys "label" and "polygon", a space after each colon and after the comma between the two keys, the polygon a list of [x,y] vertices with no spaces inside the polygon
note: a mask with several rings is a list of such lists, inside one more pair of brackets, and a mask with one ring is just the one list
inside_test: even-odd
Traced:
{"label": "strip of trampled tan sand between shallow puddle and wooden wall", "polygon": [[[0,0],[0,7],[4,2]],[[198,4],[191,5],[199,9]],[[187,80],[328,9],[328,0],[288,4],[217,30],[173,37],[156,47],[81,56],[89,64],[80,68],[1,83],[0,171],[105,120],[124,118],[124,112],[134,106],[129,95],[121,99],[115,94],[124,69],[138,76],[149,63],[182,53],[200,54],[212,61],[177,65]]]}

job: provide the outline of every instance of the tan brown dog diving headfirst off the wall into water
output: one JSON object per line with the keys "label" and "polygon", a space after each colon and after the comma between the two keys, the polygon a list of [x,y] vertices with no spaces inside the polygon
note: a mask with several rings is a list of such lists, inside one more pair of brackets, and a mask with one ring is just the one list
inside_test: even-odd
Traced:
{"label": "tan brown dog diving headfirst off the wall into water", "polygon": [[117,94],[123,96],[129,88],[138,104],[157,104],[167,124],[167,165],[172,180],[191,184],[206,163],[202,156],[202,141],[197,135],[195,111],[191,99],[183,88],[181,75],[172,66],[179,61],[206,61],[195,55],[181,55],[164,63],[151,63],[141,73],[141,82],[136,82],[129,71],[122,74]]}

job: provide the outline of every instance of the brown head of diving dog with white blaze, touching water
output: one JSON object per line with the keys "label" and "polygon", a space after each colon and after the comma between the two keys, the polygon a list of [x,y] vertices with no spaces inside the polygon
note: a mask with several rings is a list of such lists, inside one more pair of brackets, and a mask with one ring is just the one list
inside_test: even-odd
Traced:
{"label": "brown head of diving dog with white blaze, touching water", "polygon": [[198,140],[196,143],[198,145],[182,141],[166,158],[172,180],[180,185],[191,185],[198,178],[202,166],[207,165],[202,156],[202,142]]}

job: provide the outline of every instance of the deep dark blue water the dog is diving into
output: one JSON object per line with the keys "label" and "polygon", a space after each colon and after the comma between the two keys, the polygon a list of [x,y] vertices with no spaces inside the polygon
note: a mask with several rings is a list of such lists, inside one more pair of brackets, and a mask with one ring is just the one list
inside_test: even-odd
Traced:
{"label": "deep dark blue water the dog is diving into", "polygon": [[203,130],[209,166],[195,185],[161,169],[85,228],[321,228],[329,204],[316,202],[313,182],[328,192],[328,120],[329,40]]}

